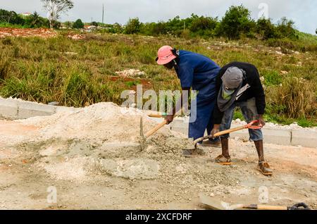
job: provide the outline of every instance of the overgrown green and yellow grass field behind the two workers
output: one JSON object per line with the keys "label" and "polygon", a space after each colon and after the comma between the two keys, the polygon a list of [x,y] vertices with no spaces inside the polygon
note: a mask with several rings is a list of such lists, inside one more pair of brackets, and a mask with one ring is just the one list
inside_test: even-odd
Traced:
{"label": "overgrown green and yellow grass field behind the two workers", "polygon": [[[180,39],[172,37],[142,37],[138,35],[87,34],[86,39],[69,39],[68,31],[59,31],[58,37],[41,39],[38,37],[7,37],[0,39],[0,95],[39,101],[59,101],[65,106],[84,106],[99,101],[113,101],[121,104],[120,93],[124,89],[134,89],[135,85],[148,83],[146,89],[156,92],[164,89],[180,89],[180,82],[173,70],[158,66],[156,51],[169,44],[178,49],[186,49],[204,54],[224,66],[230,61],[253,63],[264,77],[268,110],[266,118],[278,123],[297,121],[303,126],[317,122],[317,60],[316,51],[299,54],[275,54],[266,42],[241,39],[228,42],[225,39]],[[302,42],[310,42],[313,37],[301,37]],[[220,44],[220,42],[226,42]],[[302,43],[300,42],[300,43]],[[313,42],[313,41],[312,41]],[[249,46],[246,46],[248,44]],[[116,71],[139,69],[144,77],[118,78]],[[287,71],[282,74],[281,71]],[[277,90],[284,86],[288,78],[302,77],[303,86],[311,89],[311,108],[304,116],[291,117],[282,101],[277,98]],[[274,91],[273,91],[274,89]],[[294,88],[295,89],[295,88]],[[301,88],[297,88],[300,92]],[[285,96],[287,91],[285,89]],[[314,98],[311,98],[313,94]],[[290,98],[296,101],[295,98]],[[302,101],[305,99],[302,99]],[[235,113],[235,118],[239,117]]]}

